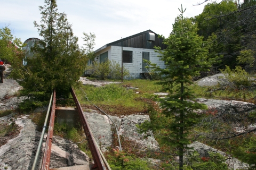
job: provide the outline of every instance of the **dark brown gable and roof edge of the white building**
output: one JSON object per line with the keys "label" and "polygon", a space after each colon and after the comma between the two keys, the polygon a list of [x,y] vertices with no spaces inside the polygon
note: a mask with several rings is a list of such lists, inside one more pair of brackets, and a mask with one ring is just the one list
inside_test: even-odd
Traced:
{"label": "dark brown gable and roof edge of the white building", "polygon": [[[154,43],[147,43],[147,38],[146,38],[146,33],[154,33],[155,34],[155,42]],[[153,47],[156,46],[161,46],[163,49],[165,47],[163,43],[163,39],[158,38],[157,33],[147,30],[143,31],[140,33],[137,33],[135,35],[119,39],[117,41],[114,41],[112,43],[108,43],[105,46],[102,46],[101,48],[95,50],[94,52],[97,53],[102,49],[105,49],[106,47],[109,46],[123,46],[123,47],[134,47],[134,48],[149,48],[149,49],[154,49]]]}

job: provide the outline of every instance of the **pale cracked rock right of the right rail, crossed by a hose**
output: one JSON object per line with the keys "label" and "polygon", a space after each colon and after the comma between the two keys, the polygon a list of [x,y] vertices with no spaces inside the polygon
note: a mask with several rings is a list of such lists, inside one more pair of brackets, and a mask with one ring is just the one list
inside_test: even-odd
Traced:
{"label": "pale cracked rock right of the right rail, crossed by a hose", "polygon": [[[84,114],[87,122],[89,122],[95,140],[101,150],[106,151],[113,141],[113,133],[116,133],[115,126],[106,115],[101,115],[96,112],[84,112]],[[140,145],[142,150],[146,148],[159,149],[153,133],[148,132],[150,136],[147,139],[143,139],[144,134],[138,133],[138,128],[136,127],[136,124],[140,124],[146,120],[150,121],[148,115],[129,115],[122,116],[121,118],[110,116],[110,118],[115,122],[118,133],[123,135],[124,138]]]}

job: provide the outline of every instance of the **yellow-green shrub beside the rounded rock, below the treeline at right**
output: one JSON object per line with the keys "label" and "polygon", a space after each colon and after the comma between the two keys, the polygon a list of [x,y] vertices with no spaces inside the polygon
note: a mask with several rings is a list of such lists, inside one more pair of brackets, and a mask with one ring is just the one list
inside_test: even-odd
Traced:
{"label": "yellow-green shrub beside the rounded rock, below the treeline at right", "polygon": [[251,86],[252,84],[249,73],[243,70],[241,66],[236,66],[236,69],[231,70],[229,66],[226,65],[226,69],[220,71],[225,74],[225,78],[237,88],[240,86]]}

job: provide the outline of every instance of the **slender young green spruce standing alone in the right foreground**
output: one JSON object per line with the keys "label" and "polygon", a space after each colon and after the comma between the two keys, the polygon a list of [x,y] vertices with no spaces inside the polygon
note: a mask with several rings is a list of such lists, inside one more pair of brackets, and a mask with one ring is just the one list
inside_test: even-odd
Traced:
{"label": "slender young green spruce standing alone in the right foreground", "polygon": [[[179,9],[180,10],[180,9]],[[211,66],[207,62],[207,43],[204,43],[203,37],[197,35],[197,24],[189,18],[183,17],[183,9],[181,6],[181,14],[175,19],[173,30],[170,36],[163,40],[167,46],[161,50],[157,47],[159,56],[165,61],[165,69],[156,67],[156,70],[163,75],[164,80],[158,82],[169,91],[170,95],[166,98],[156,98],[161,105],[162,113],[171,118],[171,123],[164,128],[170,130],[170,133],[162,138],[167,145],[178,148],[179,168],[183,169],[184,149],[190,143],[189,130],[199,121],[200,115],[195,111],[198,109],[206,109],[203,104],[193,102],[193,91],[188,86],[193,84],[191,77],[199,74],[199,71],[206,71]],[[162,37],[164,38],[164,37]],[[140,128],[162,129],[162,125],[154,125],[145,123]]]}

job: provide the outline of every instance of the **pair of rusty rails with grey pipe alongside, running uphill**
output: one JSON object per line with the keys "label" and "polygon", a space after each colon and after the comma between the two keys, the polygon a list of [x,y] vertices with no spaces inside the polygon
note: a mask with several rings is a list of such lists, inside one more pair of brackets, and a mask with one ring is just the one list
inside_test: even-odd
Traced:
{"label": "pair of rusty rails with grey pipe alongside, running uphill", "polygon": [[[111,170],[108,163],[106,162],[106,159],[104,158],[103,154],[101,153],[101,151],[99,149],[99,146],[97,145],[97,142],[95,141],[95,139],[93,137],[93,134],[90,130],[89,124],[86,121],[86,118],[83,114],[82,107],[79,104],[79,101],[76,97],[76,94],[75,94],[73,88],[71,89],[71,94],[72,94],[73,99],[75,101],[76,109],[77,109],[77,112],[78,112],[78,115],[79,115],[79,119],[81,120],[81,124],[83,126],[85,136],[86,136],[86,139],[88,141],[89,149],[90,149],[92,157],[93,157],[94,165],[93,165],[93,167],[91,167],[91,169]],[[46,138],[46,145],[45,145],[45,150],[44,150],[44,155],[43,155],[43,162],[42,162],[42,166],[41,166],[42,170],[50,169],[51,146],[52,146],[55,108],[56,108],[56,92],[55,92],[55,90],[53,91],[53,95],[50,99],[49,108],[48,108],[48,112],[47,112],[46,119],[45,119],[45,125],[43,126],[43,132],[42,132],[41,138],[43,138],[43,135],[44,135],[44,132],[45,132],[45,129],[46,129],[46,122],[47,122],[47,119],[48,119],[47,116],[48,116],[48,113],[50,111],[51,101],[52,101],[51,117],[50,117],[49,130],[48,130],[47,138]],[[41,141],[43,141],[43,139],[40,139],[40,141],[39,141],[39,145],[38,145],[38,148],[37,148],[37,153],[36,153],[36,157],[35,157],[35,161],[34,161],[32,170],[36,169],[38,155],[39,155],[39,152],[41,151],[41,146],[42,146]]]}

